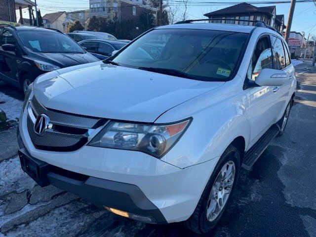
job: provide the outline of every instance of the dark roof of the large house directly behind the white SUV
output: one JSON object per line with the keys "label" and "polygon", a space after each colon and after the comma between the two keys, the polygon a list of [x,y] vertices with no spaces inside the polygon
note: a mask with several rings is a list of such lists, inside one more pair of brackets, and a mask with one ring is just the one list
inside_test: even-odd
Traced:
{"label": "dark roof of the large house directly behind the white SUV", "polygon": [[234,6],[226,7],[217,11],[212,11],[204,14],[204,16],[217,16],[217,15],[232,15],[232,14],[249,14],[249,13],[266,13],[272,16],[276,6],[262,6],[256,7],[248,3],[239,3]]}

